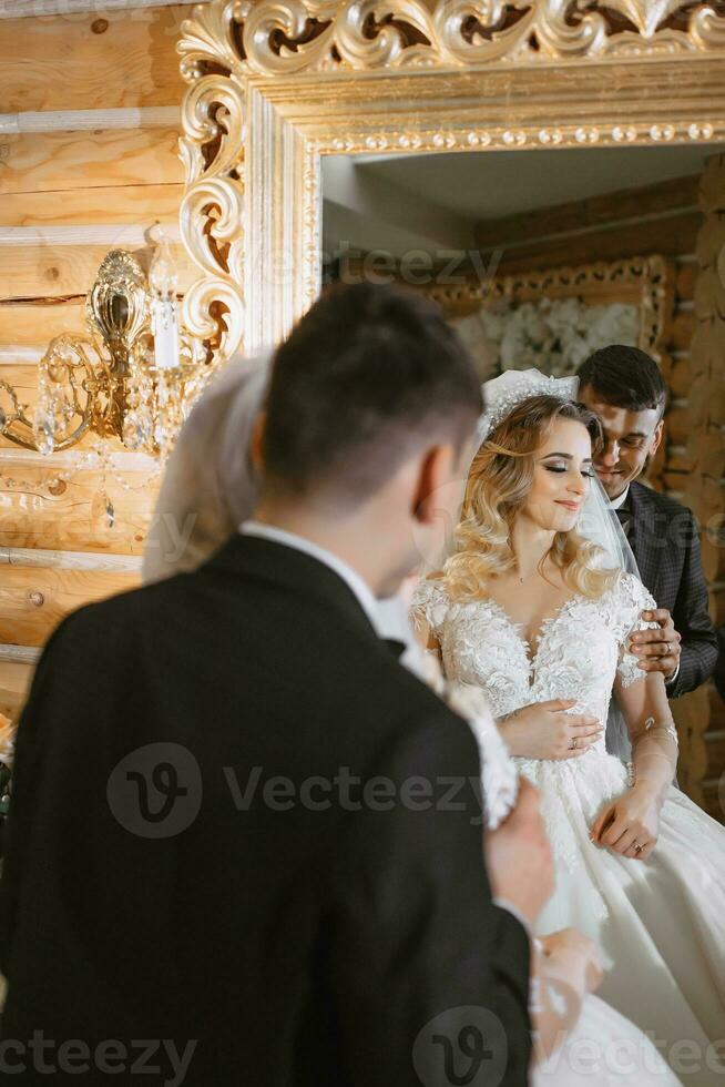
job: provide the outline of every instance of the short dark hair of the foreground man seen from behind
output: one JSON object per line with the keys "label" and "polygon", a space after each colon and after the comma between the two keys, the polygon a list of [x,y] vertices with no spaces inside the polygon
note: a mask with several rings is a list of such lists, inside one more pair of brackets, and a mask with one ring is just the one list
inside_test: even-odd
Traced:
{"label": "short dark hair of the foreground man seen from behind", "polygon": [[328,288],[277,349],[266,402],[266,486],[304,494],[338,481],[374,494],[423,443],[460,449],[480,382],[437,305],[369,283]]}

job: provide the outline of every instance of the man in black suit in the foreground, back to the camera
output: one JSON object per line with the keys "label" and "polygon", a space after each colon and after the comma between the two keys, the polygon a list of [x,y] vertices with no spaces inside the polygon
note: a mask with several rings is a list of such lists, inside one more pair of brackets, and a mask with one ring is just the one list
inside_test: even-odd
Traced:
{"label": "man in black suit in the foreground, back to the camera", "polygon": [[17,745],[4,1070],[524,1087],[535,795],[484,865],[473,735],[375,614],[480,407],[428,303],[330,292],[277,352],[254,521],[57,630]]}

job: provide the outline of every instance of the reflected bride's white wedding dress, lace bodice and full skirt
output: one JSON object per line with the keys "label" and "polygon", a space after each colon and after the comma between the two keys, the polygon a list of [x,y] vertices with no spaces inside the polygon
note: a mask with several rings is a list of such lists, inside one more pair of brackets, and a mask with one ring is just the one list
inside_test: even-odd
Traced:
{"label": "reflected bride's white wedding dress, lace bodice and full skirt", "polygon": [[[654,606],[631,575],[599,600],[574,595],[544,622],[533,657],[499,605],[451,601],[441,581],[419,582],[412,614],[436,634],[447,678],[481,689],[496,717],[578,699],[571,712],[604,724],[615,671],[624,685],[643,677],[626,640]],[[630,860],[589,836],[627,789],[603,738],[576,759],[513,761],[541,792],[554,854],[555,891],[538,933],[574,927],[595,939],[611,964],[599,995],[664,1044],[683,1081],[725,1085],[712,1045],[725,1037],[725,830],[671,788],[653,853]]]}

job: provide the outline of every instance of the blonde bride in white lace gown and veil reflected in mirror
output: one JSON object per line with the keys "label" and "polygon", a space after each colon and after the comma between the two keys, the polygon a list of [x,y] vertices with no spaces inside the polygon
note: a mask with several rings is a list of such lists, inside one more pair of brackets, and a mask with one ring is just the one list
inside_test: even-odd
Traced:
{"label": "blonde bride in white lace gown and veil reflected in mirror", "polygon": [[[419,582],[413,618],[447,678],[484,692],[507,739],[518,730],[556,871],[538,933],[596,941],[612,963],[601,997],[665,1044],[681,1079],[725,1084],[725,831],[671,785],[664,682],[630,652],[655,602],[588,538],[599,421],[568,383],[537,377],[487,386],[455,551]],[[613,687],[629,773],[604,745]]]}

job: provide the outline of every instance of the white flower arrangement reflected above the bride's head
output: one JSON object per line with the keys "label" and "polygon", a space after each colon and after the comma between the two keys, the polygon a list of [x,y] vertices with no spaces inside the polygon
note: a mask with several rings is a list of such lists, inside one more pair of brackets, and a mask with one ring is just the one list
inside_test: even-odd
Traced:
{"label": "white flower arrangement reflected above the bride's head", "polygon": [[498,302],[456,322],[456,327],[479,370],[486,370],[482,378],[531,367],[551,377],[570,377],[600,347],[636,347],[639,324],[634,305],[541,298],[518,305]]}

